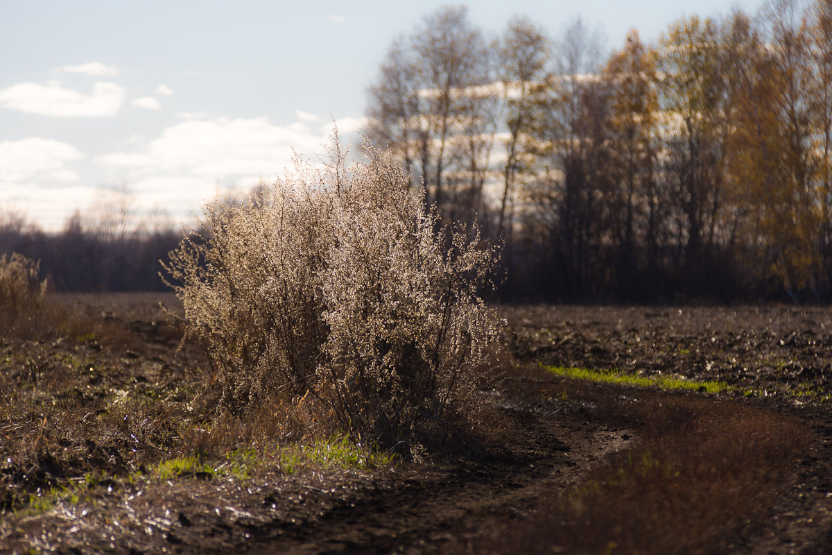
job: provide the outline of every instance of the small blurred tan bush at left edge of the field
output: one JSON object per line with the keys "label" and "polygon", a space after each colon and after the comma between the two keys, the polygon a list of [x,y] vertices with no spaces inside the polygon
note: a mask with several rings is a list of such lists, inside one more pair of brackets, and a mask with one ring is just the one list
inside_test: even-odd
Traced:
{"label": "small blurred tan bush at left edge of the field", "polygon": [[28,335],[42,325],[47,280],[40,265],[26,256],[0,256],[0,326],[3,334]]}

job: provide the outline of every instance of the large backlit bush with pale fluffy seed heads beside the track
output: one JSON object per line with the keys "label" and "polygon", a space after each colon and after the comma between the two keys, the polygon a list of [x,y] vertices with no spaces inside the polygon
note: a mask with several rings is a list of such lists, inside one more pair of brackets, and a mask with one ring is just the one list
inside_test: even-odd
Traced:
{"label": "large backlit bush with pale fluffy seed heads beside the track", "polygon": [[230,206],[163,263],[232,413],[277,399],[390,444],[443,419],[496,338],[480,297],[496,252],[437,216],[389,153],[295,172]]}

